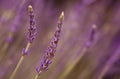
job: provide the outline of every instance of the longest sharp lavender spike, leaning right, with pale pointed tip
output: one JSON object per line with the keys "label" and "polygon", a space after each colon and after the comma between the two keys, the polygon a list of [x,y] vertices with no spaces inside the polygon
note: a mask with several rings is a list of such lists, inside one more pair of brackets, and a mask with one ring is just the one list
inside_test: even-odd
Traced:
{"label": "longest sharp lavender spike, leaning right, with pale pointed tip", "polygon": [[50,41],[50,45],[48,46],[48,49],[46,50],[46,53],[40,63],[40,66],[36,68],[37,75],[34,79],[37,79],[41,72],[48,70],[48,66],[52,63],[52,58],[54,57],[54,54],[56,52],[56,48],[58,45],[58,41],[60,38],[61,28],[63,24],[64,19],[64,12],[61,13],[58,21],[58,26],[56,28],[55,34]]}

